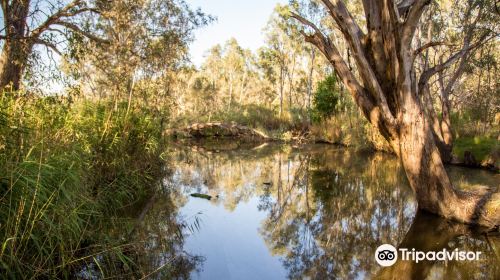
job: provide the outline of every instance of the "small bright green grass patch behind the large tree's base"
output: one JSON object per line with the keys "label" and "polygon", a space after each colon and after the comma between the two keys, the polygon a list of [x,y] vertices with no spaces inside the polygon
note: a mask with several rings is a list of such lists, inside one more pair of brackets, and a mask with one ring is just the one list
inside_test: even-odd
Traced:
{"label": "small bright green grass patch behind the large tree's base", "polygon": [[484,160],[494,149],[500,147],[500,141],[484,136],[461,137],[453,143],[453,153],[463,159],[464,152],[470,151],[476,160]]}

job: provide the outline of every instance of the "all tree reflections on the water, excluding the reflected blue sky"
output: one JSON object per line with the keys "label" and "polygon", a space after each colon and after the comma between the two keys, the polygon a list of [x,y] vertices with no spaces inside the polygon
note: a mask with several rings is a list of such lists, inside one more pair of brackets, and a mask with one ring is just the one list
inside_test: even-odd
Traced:
{"label": "all tree reflections on the water, excluding the reflected blue sky", "polygon": [[[498,237],[416,215],[406,178],[389,155],[268,145],[220,153],[178,150],[173,158],[176,171],[170,179],[180,187],[180,197],[217,194],[220,199],[211,203],[229,212],[259,198],[258,211],[266,213],[259,234],[269,253],[281,257],[289,278],[498,279],[499,261],[487,242],[498,244]],[[482,251],[484,258],[398,262],[382,270],[374,252],[384,243],[423,251]]]}

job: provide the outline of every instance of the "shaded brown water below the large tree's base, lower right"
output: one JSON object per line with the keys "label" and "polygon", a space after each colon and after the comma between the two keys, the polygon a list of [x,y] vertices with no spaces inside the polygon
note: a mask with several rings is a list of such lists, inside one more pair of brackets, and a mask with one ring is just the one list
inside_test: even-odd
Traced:
{"label": "shaded brown water below the large tree's base, lower right", "polygon": [[[384,268],[375,279],[500,279],[499,236],[481,232],[464,224],[450,222],[434,215],[418,212],[399,248],[422,252],[446,249],[481,252],[478,261],[433,261],[419,263],[402,260]],[[496,244],[496,245],[495,245]],[[494,250],[497,250],[496,252]]]}

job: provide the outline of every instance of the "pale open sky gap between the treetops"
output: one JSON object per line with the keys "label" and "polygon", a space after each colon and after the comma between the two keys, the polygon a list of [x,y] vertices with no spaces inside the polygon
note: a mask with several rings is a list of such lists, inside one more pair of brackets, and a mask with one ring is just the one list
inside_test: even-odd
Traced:
{"label": "pale open sky gap between the treetops", "polygon": [[217,21],[195,31],[190,46],[191,61],[200,66],[208,49],[236,38],[245,49],[257,50],[264,44],[262,29],[276,4],[288,0],[187,0],[191,8],[201,8]]}

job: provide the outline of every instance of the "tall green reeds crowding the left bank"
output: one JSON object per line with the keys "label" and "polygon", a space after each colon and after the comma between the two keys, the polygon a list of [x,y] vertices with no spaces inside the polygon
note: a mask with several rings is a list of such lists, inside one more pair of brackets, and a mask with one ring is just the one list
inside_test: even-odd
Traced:
{"label": "tall green reeds crowding the left bank", "polygon": [[0,98],[0,278],[71,278],[97,253],[126,261],[101,230],[153,190],[159,118],[106,101]]}

